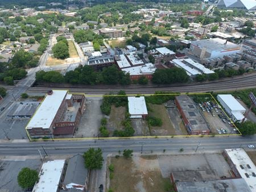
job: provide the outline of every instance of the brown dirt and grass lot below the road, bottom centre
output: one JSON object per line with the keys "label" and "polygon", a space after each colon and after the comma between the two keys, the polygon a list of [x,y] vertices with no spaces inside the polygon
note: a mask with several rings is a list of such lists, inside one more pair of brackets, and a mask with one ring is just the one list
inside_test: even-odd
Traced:
{"label": "brown dirt and grass lot below the road, bottom centre", "polygon": [[111,158],[114,177],[110,180],[113,191],[166,192],[171,189],[169,178],[163,178],[157,156]]}

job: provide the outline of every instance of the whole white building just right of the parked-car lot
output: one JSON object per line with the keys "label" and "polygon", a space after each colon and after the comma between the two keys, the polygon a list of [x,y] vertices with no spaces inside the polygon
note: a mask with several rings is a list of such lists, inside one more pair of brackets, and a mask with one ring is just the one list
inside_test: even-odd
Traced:
{"label": "whole white building just right of the parked-car lot", "polygon": [[242,122],[246,110],[237,99],[230,94],[219,94],[217,99],[234,122]]}

